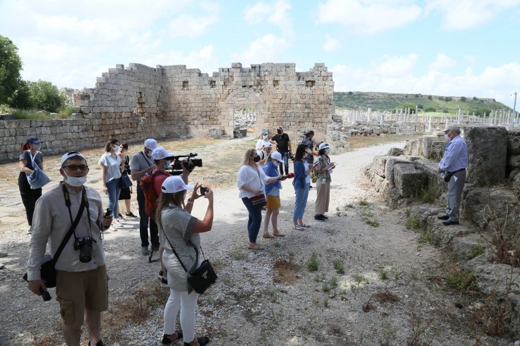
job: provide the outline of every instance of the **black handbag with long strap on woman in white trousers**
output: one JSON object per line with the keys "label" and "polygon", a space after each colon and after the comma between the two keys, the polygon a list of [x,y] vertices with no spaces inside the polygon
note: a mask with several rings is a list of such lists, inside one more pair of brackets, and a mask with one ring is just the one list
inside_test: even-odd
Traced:
{"label": "black handbag with long strap on woman in white trousers", "polygon": [[[199,294],[204,293],[209,288],[209,286],[212,286],[212,284],[216,282],[216,279],[218,278],[216,276],[215,270],[213,269],[212,263],[206,259],[206,256],[204,256],[204,251],[202,251],[202,256],[204,256],[204,260],[202,261],[202,263],[200,263],[200,266],[195,268],[194,270],[188,271],[184,266],[183,262],[181,261],[181,258],[178,257],[174,249],[174,246],[171,245],[170,239],[168,239],[166,232],[164,232],[164,229],[162,229],[162,226],[161,230],[164,233],[164,237],[171,246],[171,251],[174,252],[175,257],[177,258],[178,262],[181,263],[183,270],[186,272],[186,274],[188,274],[188,285],[190,285],[188,293],[191,292],[191,289],[193,289],[193,291]],[[195,246],[191,242],[190,244],[193,246],[193,248],[195,248],[195,264],[197,264],[199,262],[199,251],[197,250],[197,246]],[[200,250],[202,250],[202,248],[200,248]]]}

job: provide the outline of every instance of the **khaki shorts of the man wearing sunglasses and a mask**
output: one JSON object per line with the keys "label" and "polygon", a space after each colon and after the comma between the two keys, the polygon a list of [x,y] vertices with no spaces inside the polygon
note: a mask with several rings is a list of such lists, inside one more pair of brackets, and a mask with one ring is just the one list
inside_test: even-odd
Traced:
{"label": "khaki shorts of the man wearing sunglasses and a mask", "polygon": [[85,308],[96,312],[108,310],[107,280],[105,265],[86,272],[58,270],[56,300],[60,302],[63,323],[80,328],[84,322]]}

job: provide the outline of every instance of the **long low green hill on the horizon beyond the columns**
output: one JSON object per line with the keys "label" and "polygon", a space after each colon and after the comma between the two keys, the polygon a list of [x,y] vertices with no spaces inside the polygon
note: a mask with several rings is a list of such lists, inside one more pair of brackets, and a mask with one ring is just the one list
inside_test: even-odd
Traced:
{"label": "long low green hill on the horizon beyond the columns", "polygon": [[415,105],[426,112],[456,113],[461,111],[469,114],[489,114],[491,110],[511,110],[502,102],[496,102],[493,98],[476,98],[464,96],[437,96],[421,94],[396,94],[396,93],[364,93],[360,91],[335,92],[334,105],[339,109],[368,109],[378,111],[391,111],[396,107],[403,107],[408,103],[415,111]]}

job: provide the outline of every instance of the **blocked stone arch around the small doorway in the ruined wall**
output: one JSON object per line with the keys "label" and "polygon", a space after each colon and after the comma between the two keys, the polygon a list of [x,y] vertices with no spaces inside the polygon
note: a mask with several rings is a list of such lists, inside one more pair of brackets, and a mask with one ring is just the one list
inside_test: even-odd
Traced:
{"label": "blocked stone arch around the small doorway in the ruined wall", "polygon": [[252,90],[252,88],[241,88],[231,92],[226,101],[220,102],[219,107],[224,134],[230,135],[231,138],[233,138],[235,127],[235,109],[256,110],[256,120],[253,126],[255,134],[259,134],[261,129],[268,127],[265,101],[261,98],[260,93]]}

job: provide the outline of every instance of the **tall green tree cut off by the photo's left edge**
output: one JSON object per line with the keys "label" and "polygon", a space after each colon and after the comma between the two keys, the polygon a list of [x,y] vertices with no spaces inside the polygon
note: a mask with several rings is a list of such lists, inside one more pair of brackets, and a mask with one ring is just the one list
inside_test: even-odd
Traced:
{"label": "tall green tree cut off by the photo's left edge", "polygon": [[0,36],[0,104],[8,103],[18,90],[21,69],[18,48],[6,36]]}

